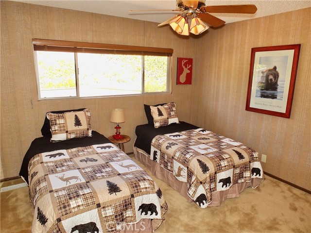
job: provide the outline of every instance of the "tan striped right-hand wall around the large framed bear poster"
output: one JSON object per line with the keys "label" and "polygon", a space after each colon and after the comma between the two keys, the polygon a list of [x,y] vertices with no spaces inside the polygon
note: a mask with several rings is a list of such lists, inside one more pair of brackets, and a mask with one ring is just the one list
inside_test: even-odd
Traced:
{"label": "tan striped right-hand wall around the large framed bear poster", "polygon": [[[226,24],[200,38],[197,125],[267,155],[264,171],[311,190],[311,8]],[[245,111],[251,48],[301,44],[291,117]]]}

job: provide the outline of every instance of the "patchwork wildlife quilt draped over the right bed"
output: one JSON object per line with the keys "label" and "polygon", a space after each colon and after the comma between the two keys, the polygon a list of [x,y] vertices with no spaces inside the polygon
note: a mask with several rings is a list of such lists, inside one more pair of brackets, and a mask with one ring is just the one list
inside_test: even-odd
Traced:
{"label": "patchwork wildlife quilt draped over the right bed", "polygon": [[150,159],[187,182],[188,196],[201,208],[213,192],[264,179],[255,150],[202,128],[155,136]]}

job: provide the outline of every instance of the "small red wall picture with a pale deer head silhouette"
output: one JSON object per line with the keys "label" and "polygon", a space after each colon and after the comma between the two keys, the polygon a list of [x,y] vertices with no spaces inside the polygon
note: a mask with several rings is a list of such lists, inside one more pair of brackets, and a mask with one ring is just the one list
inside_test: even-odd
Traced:
{"label": "small red wall picture with a pale deer head silhouette", "polygon": [[191,84],[192,58],[177,57],[177,85]]}

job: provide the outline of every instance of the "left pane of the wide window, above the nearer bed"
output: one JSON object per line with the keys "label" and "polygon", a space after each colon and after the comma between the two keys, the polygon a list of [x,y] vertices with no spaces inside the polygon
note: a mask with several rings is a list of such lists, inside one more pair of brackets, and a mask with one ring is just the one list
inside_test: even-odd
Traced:
{"label": "left pane of the wide window, above the nearer bed", "polygon": [[36,51],[40,97],[77,96],[74,53]]}

